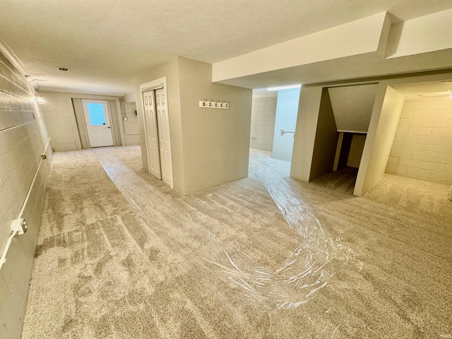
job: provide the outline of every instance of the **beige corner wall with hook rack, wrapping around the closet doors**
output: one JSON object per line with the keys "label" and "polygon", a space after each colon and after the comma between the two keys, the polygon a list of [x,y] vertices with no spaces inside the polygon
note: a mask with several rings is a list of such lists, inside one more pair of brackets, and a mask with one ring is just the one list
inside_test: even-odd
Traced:
{"label": "beige corner wall with hook rack, wrapping around the closet doors", "polygon": [[[251,90],[212,83],[211,65],[182,57],[133,78],[140,85],[166,77],[174,189],[191,194],[248,174]],[[230,101],[230,109],[198,107],[204,98]],[[137,96],[143,167],[143,107]]]}

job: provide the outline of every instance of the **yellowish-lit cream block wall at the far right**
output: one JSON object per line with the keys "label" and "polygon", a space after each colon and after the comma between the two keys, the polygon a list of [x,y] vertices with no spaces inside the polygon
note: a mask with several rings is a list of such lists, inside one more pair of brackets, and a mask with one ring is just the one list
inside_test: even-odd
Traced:
{"label": "yellowish-lit cream block wall at the far right", "polygon": [[452,99],[405,100],[386,172],[452,184]]}

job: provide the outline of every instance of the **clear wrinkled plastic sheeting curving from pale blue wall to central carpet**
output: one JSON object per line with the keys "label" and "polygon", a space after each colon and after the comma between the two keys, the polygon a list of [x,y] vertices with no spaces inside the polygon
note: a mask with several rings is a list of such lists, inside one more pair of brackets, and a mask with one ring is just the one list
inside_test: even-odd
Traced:
{"label": "clear wrinkled plastic sheeting curving from pale blue wall to central carpet", "polygon": [[[309,205],[296,194],[273,167],[273,159],[250,156],[250,174],[256,175],[275,201],[300,243],[276,270],[261,266],[241,249],[227,251],[222,261],[210,261],[228,280],[242,287],[251,299],[266,301],[276,309],[291,309],[305,304],[330,283],[332,261],[358,263],[339,239],[327,237]],[[218,244],[215,234],[210,239]],[[358,263],[359,264],[359,263]]]}

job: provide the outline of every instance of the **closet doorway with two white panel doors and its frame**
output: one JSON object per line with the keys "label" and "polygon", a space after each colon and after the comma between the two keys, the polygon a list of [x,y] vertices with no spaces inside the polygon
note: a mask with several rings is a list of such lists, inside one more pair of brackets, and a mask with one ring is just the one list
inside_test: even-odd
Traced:
{"label": "closet doorway with two white panel doors and its frame", "polygon": [[166,78],[140,88],[149,173],[173,188]]}

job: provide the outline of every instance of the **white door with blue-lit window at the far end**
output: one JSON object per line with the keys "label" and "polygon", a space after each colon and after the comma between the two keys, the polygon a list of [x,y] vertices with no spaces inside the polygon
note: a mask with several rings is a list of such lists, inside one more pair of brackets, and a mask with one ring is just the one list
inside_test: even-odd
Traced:
{"label": "white door with blue-lit window at the far end", "polygon": [[107,101],[83,99],[82,105],[90,146],[112,146],[113,135]]}

